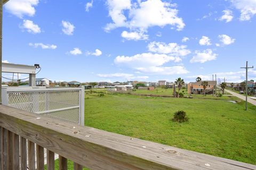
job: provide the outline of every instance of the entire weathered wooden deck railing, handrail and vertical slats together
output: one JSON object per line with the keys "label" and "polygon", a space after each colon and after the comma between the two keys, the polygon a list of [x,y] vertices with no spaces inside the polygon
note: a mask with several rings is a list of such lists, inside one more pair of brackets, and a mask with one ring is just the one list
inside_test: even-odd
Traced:
{"label": "entire weathered wooden deck railing, handrail and vertical slats together", "polygon": [[74,162],[74,169],[256,169],[254,165],[61,122],[3,105],[0,126],[1,170],[33,170],[35,166],[44,169],[43,148],[47,149],[47,169],[54,169],[54,152],[60,155],[60,169],[67,169],[67,159]]}

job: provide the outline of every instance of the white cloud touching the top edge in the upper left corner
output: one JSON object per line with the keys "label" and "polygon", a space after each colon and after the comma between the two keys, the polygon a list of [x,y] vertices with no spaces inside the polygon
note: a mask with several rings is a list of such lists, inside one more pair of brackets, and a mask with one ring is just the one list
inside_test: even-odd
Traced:
{"label": "white cloud touching the top edge in the upper left corner", "polygon": [[24,15],[34,16],[36,13],[35,7],[39,0],[11,0],[4,7],[7,12],[23,18]]}

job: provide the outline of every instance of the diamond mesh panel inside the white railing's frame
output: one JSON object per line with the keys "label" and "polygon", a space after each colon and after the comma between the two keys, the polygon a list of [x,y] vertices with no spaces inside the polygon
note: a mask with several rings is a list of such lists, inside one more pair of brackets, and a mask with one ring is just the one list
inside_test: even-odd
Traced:
{"label": "diamond mesh panel inside the white railing's frame", "polygon": [[9,106],[79,123],[79,90],[9,91]]}

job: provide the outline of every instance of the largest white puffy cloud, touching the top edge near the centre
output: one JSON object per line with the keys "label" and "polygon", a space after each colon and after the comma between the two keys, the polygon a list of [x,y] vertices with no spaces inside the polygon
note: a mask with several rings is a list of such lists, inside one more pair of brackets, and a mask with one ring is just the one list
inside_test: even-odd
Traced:
{"label": "largest white puffy cloud, touching the top edge near the centre", "polygon": [[131,0],[108,0],[107,5],[109,16],[113,22],[106,25],[106,31],[118,27],[140,31],[147,31],[149,27],[164,27],[165,25],[176,26],[177,30],[182,30],[185,27],[182,18],[177,16],[178,10],[174,8],[175,5],[161,0],[138,1],[134,4],[131,3]]}

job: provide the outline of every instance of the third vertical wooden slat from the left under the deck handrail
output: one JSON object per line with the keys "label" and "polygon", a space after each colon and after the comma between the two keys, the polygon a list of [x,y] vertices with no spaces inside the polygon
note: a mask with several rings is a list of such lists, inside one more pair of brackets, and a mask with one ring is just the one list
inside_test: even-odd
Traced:
{"label": "third vertical wooden slat from the left under the deck handrail", "polygon": [[18,134],[13,134],[13,168],[20,169],[20,137]]}

